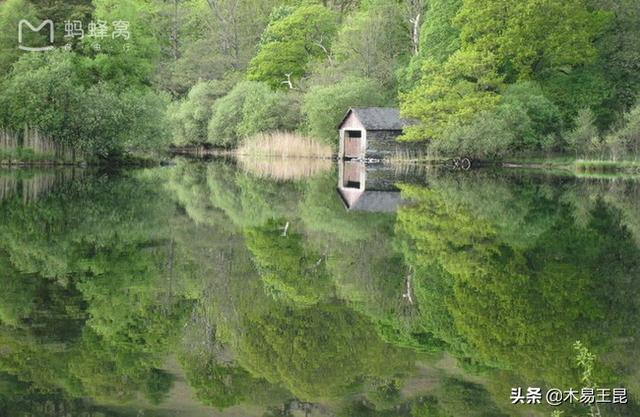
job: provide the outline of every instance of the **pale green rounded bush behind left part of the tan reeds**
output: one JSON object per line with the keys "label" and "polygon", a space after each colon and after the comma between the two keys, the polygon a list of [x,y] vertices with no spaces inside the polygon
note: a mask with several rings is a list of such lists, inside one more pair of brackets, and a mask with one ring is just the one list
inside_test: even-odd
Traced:
{"label": "pale green rounded bush behind left part of the tan reeds", "polygon": [[256,133],[293,130],[299,110],[295,97],[273,91],[267,84],[244,81],[216,100],[209,122],[209,143],[234,147],[240,139]]}

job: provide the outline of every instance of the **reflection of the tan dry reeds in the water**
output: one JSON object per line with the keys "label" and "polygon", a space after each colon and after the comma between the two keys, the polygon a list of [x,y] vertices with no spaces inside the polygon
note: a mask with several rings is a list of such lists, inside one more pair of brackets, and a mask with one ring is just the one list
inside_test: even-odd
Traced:
{"label": "reflection of the tan dry reeds in the water", "polygon": [[331,170],[330,159],[309,158],[252,158],[239,156],[240,167],[257,177],[278,181],[310,178]]}

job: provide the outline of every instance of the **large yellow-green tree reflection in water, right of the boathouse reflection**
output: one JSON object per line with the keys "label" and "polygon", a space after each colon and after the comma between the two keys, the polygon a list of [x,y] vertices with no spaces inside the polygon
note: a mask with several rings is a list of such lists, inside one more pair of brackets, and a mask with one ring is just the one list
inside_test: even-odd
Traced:
{"label": "large yellow-green tree reflection in water, right of the boathouse reflection", "polygon": [[[412,204],[398,213],[397,234],[416,270],[422,320],[462,357],[577,382],[575,340],[609,352],[611,365],[616,340],[637,335],[640,251],[602,201],[578,224],[572,206],[539,186],[507,187],[446,179],[403,187]],[[513,230],[519,224],[529,225],[526,239]]]}

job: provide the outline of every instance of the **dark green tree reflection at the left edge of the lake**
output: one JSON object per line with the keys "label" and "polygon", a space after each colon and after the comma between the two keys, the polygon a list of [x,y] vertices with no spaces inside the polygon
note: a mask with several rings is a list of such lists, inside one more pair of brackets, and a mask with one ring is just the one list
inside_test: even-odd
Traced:
{"label": "dark green tree reflection at the left edge of the lake", "polygon": [[0,371],[31,398],[157,402],[170,388],[160,367],[186,304],[159,289],[161,197],[144,175],[86,177],[37,204],[1,203]]}

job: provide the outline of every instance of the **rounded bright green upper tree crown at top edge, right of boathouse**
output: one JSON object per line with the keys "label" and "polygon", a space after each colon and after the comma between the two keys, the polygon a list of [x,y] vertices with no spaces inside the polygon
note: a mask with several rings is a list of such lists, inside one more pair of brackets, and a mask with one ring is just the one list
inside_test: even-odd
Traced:
{"label": "rounded bright green upper tree crown at top edge, right of boathouse", "polygon": [[585,0],[466,0],[455,22],[463,48],[493,53],[509,78],[526,79],[593,60],[607,19]]}

